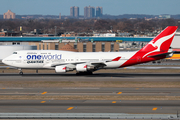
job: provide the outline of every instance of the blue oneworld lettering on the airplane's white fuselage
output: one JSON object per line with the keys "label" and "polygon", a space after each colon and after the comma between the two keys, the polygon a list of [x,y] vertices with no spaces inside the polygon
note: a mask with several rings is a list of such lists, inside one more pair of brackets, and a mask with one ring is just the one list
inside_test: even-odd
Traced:
{"label": "blue oneworld lettering on the airplane's white fuselage", "polygon": [[56,60],[60,60],[62,57],[62,55],[27,55],[27,59],[28,60],[52,60],[52,59],[56,59]]}

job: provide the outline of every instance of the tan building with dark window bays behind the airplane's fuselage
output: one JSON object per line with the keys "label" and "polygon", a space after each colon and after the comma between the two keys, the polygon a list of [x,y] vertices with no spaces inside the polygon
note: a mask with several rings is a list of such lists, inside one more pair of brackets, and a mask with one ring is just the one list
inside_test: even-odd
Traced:
{"label": "tan building with dark window bays behind the airplane's fuselage", "polygon": [[[37,46],[38,50],[63,50],[63,46],[69,44],[78,52],[117,52],[119,44],[116,42],[29,42],[29,45]],[[68,50],[68,49],[66,49]]]}

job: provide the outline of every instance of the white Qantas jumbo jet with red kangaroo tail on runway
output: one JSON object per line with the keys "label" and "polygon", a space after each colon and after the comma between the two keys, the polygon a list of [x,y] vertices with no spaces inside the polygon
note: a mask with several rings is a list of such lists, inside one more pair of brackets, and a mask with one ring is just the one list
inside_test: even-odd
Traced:
{"label": "white Qantas jumbo jet with red kangaroo tail on runway", "polygon": [[54,69],[56,73],[76,70],[92,74],[99,69],[115,69],[160,60],[173,55],[169,50],[177,26],[166,27],[139,51],[131,52],[69,52],[61,50],[21,50],[4,58],[6,65],[22,69]]}

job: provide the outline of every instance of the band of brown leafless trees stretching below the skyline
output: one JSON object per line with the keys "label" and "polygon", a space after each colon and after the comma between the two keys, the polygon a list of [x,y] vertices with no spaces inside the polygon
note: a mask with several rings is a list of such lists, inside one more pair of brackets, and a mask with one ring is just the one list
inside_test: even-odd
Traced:
{"label": "band of brown leafless trees stretching below the skyline", "polygon": [[167,26],[180,26],[178,19],[27,19],[27,20],[0,20],[0,28],[9,31],[20,31],[29,33],[34,29],[38,29],[42,34],[60,35],[66,32],[75,33],[92,33],[107,32],[145,32],[164,29]]}

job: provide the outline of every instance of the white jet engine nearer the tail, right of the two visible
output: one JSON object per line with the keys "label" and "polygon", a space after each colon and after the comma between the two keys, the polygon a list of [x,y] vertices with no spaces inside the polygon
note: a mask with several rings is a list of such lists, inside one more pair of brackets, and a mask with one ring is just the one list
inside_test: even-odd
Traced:
{"label": "white jet engine nearer the tail, right of the two visible", "polygon": [[78,72],[86,72],[86,71],[93,70],[93,69],[94,69],[94,66],[90,66],[87,64],[77,64],[76,65],[76,70]]}

